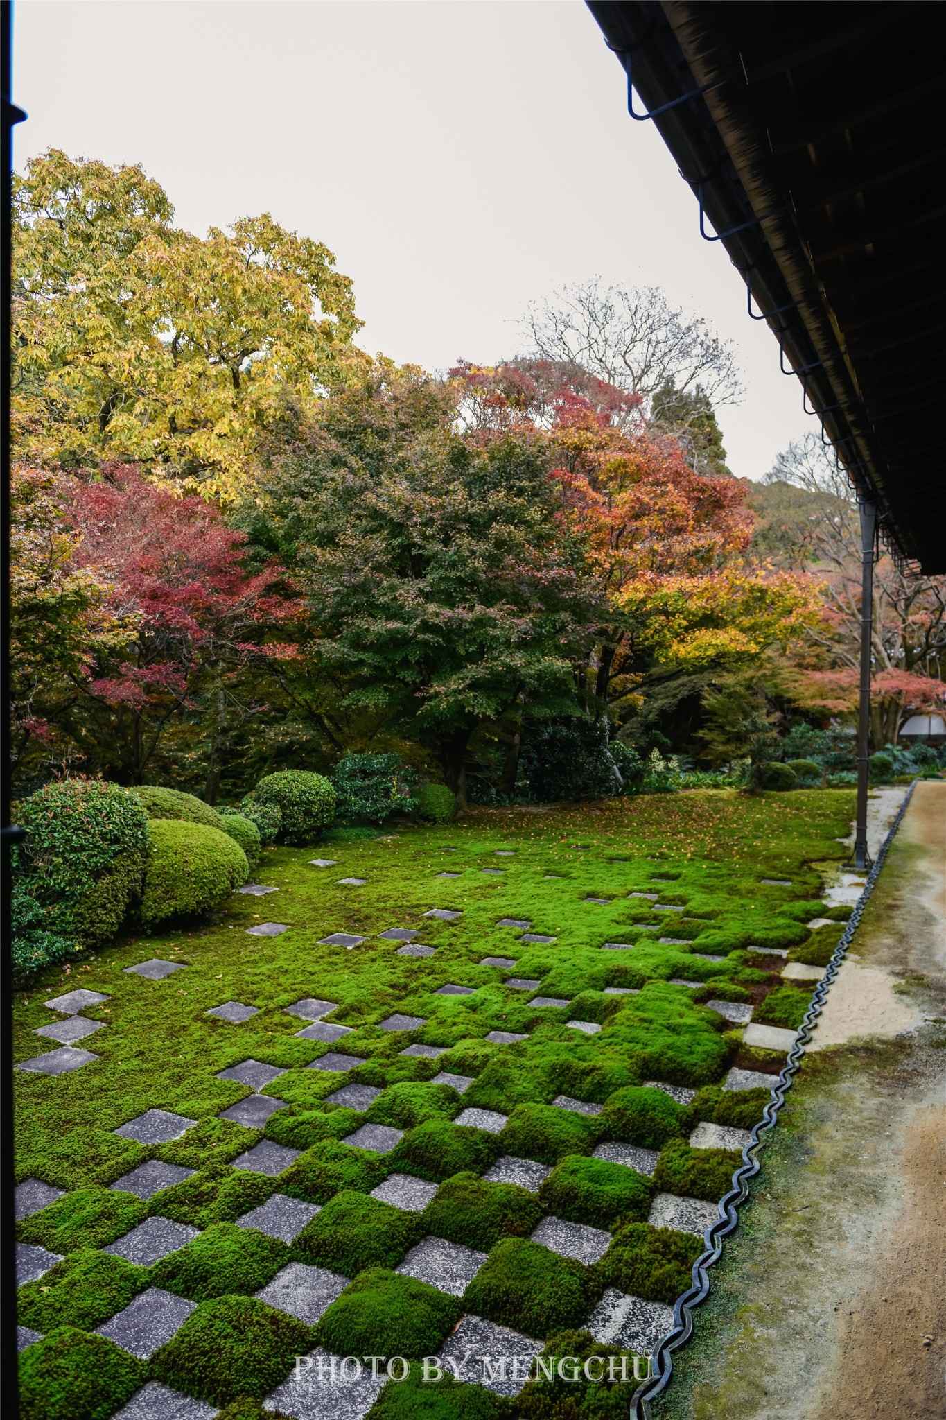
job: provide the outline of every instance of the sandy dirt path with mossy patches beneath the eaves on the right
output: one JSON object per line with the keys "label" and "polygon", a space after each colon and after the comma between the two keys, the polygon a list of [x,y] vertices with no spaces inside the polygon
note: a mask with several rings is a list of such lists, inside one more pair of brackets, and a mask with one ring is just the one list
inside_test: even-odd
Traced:
{"label": "sandy dirt path with mossy patches beneath the eaves on the right", "polygon": [[946,784],[828,1001],[654,1420],[946,1417]]}

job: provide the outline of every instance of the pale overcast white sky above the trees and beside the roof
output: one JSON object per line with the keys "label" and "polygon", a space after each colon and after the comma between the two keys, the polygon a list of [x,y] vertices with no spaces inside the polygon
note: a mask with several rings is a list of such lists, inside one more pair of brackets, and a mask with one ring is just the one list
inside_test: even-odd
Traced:
{"label": "pale overcast white sky above the trees and beside the roof", "polygon": [[17,0],[14,99],[18,168],[142,163],[191,231],[271,212],[325,241],[370,351],[489,364],[563,283],[662,285],[736,342],[733,473],[813,427],[581,0]]}

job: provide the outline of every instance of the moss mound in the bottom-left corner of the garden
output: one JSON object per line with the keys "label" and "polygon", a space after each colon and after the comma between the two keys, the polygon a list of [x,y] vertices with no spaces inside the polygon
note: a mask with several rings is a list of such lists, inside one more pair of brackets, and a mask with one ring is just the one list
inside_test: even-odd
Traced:
{"label": "moss mound in the bottom-left corner of the garden", "polygon": [[145,1384],[148,1367],[115,1342],[57,1326],[18,1363],[20,1420],[109,1420]]}

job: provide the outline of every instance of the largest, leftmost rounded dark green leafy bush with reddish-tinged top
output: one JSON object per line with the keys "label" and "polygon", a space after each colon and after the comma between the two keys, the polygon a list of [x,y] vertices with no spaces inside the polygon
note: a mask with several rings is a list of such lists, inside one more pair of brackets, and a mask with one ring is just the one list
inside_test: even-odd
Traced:
{"label": "largest, leftmost rounded dark green leafy bush with reddish-tinged top", "polygon": [[62,780],[17,805],[13,963],[20,973],[115,936],[142,889],[148,815],[116,784]]}

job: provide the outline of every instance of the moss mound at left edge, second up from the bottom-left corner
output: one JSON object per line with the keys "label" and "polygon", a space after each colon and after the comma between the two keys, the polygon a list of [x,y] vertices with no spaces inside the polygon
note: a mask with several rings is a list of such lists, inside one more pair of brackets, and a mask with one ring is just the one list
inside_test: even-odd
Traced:
{"label": "moss mound at left edge, second up from the bottom-left corner", "polygon": [[62,1258],[17,1292],[17,1321],[45,1335],[55,1326],[95,1331],[148,1287],[148,1271],[85,1248]]}

